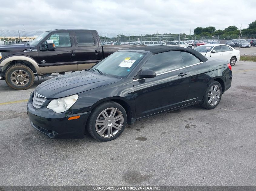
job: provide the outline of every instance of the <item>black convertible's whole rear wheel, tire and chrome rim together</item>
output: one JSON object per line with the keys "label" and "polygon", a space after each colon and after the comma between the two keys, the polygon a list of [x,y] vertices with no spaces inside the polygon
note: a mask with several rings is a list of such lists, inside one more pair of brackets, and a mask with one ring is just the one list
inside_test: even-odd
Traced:
{"label": "black convertible's whole rear wheel, tire and chrome rim together", "polygon": [[[218,90],[219,90],[219,93],[217,93],[217,94],[214,93],[214,95],[213,95],[214,97],[210,97],[209,98],[208,95],[210,94],[210,92],[212,92],[212,91],[214,92],[214,88],[215,87],[216,88],[218,87],[216,89],[216,91],[218,92]],[[199,104],[200,104],[201,107],[203,107],[205,109],[208,109],[208,110],[214,109],[220,103],[221,95],[222,95],[221,84],[218,81],[212,81],[210,84],[208,84],[208,86],[207,86],[207,88],[206,88],[206,90],[204,92],[203,100]],[[218,100],[217,100],[217,98],[218,98]],[[214,101],[211,101],[213,99],[214,99]]]}

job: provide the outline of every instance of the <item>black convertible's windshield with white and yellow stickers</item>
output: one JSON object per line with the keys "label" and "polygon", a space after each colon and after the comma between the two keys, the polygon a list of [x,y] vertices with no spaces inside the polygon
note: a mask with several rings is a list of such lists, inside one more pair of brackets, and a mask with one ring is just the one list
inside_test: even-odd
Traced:
{"label": "black convertible's windshield with white and yellow stickers", "polygon": [[145,54],[138,52],[115,52],[96,64],[93,69],[98,69],[105,75],[125,77],[131,73],[144,56]]}

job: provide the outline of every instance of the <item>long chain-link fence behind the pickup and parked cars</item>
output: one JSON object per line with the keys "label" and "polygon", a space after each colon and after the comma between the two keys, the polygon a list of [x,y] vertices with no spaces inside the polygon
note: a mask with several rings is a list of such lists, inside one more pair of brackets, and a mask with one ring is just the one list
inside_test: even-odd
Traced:
{"label": "long chain-link fence behind the pickup and parked cars", "polygon": [[[0,30],[0,45],[25,44],[34,40],[44,31],[34,30]],[[135,33],[105,33],[99,32],[102,45],[128,44],[163,44],[168,41],[220,41],[233,39],[256,39],[256,34],[200,36],[186,34],[135,34]]]}

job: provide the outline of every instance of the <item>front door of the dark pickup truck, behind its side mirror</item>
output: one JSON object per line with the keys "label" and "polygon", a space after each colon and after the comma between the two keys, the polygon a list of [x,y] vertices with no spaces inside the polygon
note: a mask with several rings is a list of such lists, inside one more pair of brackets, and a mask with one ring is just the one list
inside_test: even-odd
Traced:
{"label": "front door of the dark pickup truck, behind its side mirror", "polygon": [[[43,44],[46,40],[53,40],[55,49],[43,51]],[[64,66],[63,71],[77,70],[77,62],[72,52],[75,51],[74,41],[69,32],[56,32],[47,37],[38,47],[38,57],[35,58],[39,67],[45,66]],[[70,69],[70,70],[69,70]],[[60,71],[60,70],[58,70]],[[61,71],[60,71],[61,72]]]}

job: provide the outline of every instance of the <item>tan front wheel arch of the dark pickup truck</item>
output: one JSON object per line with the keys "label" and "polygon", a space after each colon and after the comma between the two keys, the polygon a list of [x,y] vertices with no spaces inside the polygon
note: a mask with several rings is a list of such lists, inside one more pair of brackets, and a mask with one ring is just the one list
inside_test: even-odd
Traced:
{"label": "tan front wheel arch of the dark pickup truck", "polygon": [[[15,65],[13,63],[15,61],[24,62],[25,65],[27,65],[30,69],[32,69],[33,72],[40,74],[40,68],[39,68],[37,62],[28,56],[22,56],[22,55],[9,56],[9,57],[5,58],[4,60],[2,60],[2,62],[0,63],[0,67],[3,67],[3,71],[6,71],[8,69],[8,66]],[[18,63],[18,64],[22,64],[22,63]]]}

